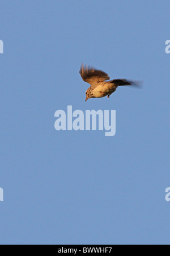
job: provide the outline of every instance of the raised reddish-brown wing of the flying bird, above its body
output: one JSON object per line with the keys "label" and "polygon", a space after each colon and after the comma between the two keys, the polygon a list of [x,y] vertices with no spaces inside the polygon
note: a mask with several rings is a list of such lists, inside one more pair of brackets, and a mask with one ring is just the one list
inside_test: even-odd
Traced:
{"label": "raised reddish-brown wing of the flying bird, above its body", "polygon": [[99,82],[103,82],[105,80],[110,79],[108,74],[106,74],[105,72],[88,67],[88,66],[84,66],[83,64],[82,64],[79,72],[80,72],[82,79],[85,82],[90,83],[90,85],[92,87],[97,86],[97,83],[99,83]]}

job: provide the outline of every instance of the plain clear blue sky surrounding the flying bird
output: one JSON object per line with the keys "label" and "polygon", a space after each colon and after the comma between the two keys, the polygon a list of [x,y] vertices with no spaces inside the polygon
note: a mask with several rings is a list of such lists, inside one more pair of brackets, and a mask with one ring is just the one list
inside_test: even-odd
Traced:
{"label": "plain clear blue sky surrounding the flying bird", "polygon": [[[1,1],[1,244],[169,244],[168,1]],[[84,62],[143,81],[86,103]],[[116,110],[116,135],[54,112]]]}

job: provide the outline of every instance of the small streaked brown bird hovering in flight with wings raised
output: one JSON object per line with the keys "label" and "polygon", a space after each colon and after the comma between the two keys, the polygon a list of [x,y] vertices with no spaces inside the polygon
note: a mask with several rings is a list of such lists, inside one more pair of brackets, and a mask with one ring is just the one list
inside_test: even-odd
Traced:
{"label": "small streaked brown bird hovering in flight with wings raised", "polygon": [[109,98],[118,86],[138,85],[138,82],[127,81],[126,79],[106,81],[110,79],[107,73],[88,67],[87,65],[84,66],[84,64],[80,67],[79,73],[82,79],[91,85],[86,91],[86,100],[90,98],[102,98],[107,95]]}

